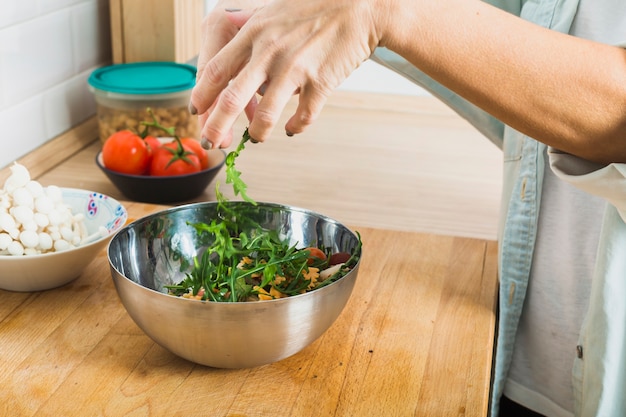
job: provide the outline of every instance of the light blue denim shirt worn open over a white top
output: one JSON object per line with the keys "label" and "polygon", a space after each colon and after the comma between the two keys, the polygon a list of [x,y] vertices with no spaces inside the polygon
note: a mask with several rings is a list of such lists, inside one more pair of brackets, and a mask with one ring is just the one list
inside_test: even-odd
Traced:
{"label": "light blue denim shirt worn open over a white top", "polygon": [[[488,3],[564,33],[578,7],[578,0]],[[387,49],[378,48],[372,59],[430,91],[503,151],[499,321],[491,395],[491,415],[497,416],[530,275],[545,145],[502,124]],[[579,349],[572,352],[575,415],[626,416],[626,164],[598,165],[555,149],[548,149],[548,157],[559,178],[609,203]]]}

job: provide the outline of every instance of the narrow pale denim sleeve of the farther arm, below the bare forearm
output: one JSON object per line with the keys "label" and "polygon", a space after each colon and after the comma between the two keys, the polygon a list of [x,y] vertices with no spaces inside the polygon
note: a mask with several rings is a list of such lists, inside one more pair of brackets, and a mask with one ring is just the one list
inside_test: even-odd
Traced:
{"label": "narrow pale denim sleeve of the farther arm, below the bare forearm", "polygon": [[371,59],[423,87],[472,124],[499,148],[502,148],[504,136],[504,124],[502,122],[452,92],[450,89],[443,87],[406,59],[389,49],[382,47],[376,48]]}

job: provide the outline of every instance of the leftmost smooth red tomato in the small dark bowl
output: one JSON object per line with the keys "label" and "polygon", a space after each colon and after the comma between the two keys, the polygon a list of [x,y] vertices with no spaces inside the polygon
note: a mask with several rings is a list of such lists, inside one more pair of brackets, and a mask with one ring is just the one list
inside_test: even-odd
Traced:
{"label": "leftmost smooth red tomato in the small dark bowl", "polygon": [[145,174],[150,167],[151,154],[141,137],[130,130],[115,132],[102,145],[104,166],[124,174]]}

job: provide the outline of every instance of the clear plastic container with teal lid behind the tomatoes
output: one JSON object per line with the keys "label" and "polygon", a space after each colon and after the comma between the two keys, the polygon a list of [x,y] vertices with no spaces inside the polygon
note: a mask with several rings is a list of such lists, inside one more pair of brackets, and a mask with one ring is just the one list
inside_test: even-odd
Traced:
{"label": "clear plastic container with teal lid behind the tomatoes", "polygon": [[[175,62],[136,62],[98,68],[88,83],[94,93],[99,137],[104,142],[113,133],[142,130],[151,121],[151,108],[158,121],[175,127],[180,137],[198,138],[198,120],[187,106],[196,82],[196,68]],[[163,136],[163,132],[150,132]]]}

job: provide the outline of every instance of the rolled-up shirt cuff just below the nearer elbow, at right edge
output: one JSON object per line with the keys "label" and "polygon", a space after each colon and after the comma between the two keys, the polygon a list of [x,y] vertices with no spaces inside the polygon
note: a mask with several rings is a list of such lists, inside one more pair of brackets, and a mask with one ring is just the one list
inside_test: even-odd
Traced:
{"label": "rolled-up shirt cuff just below the nearer elbow, at right edge", "polygon": [[626,164],[597,164],[548,148],[550,167],[564,181],[615,206],[626,222]]}

